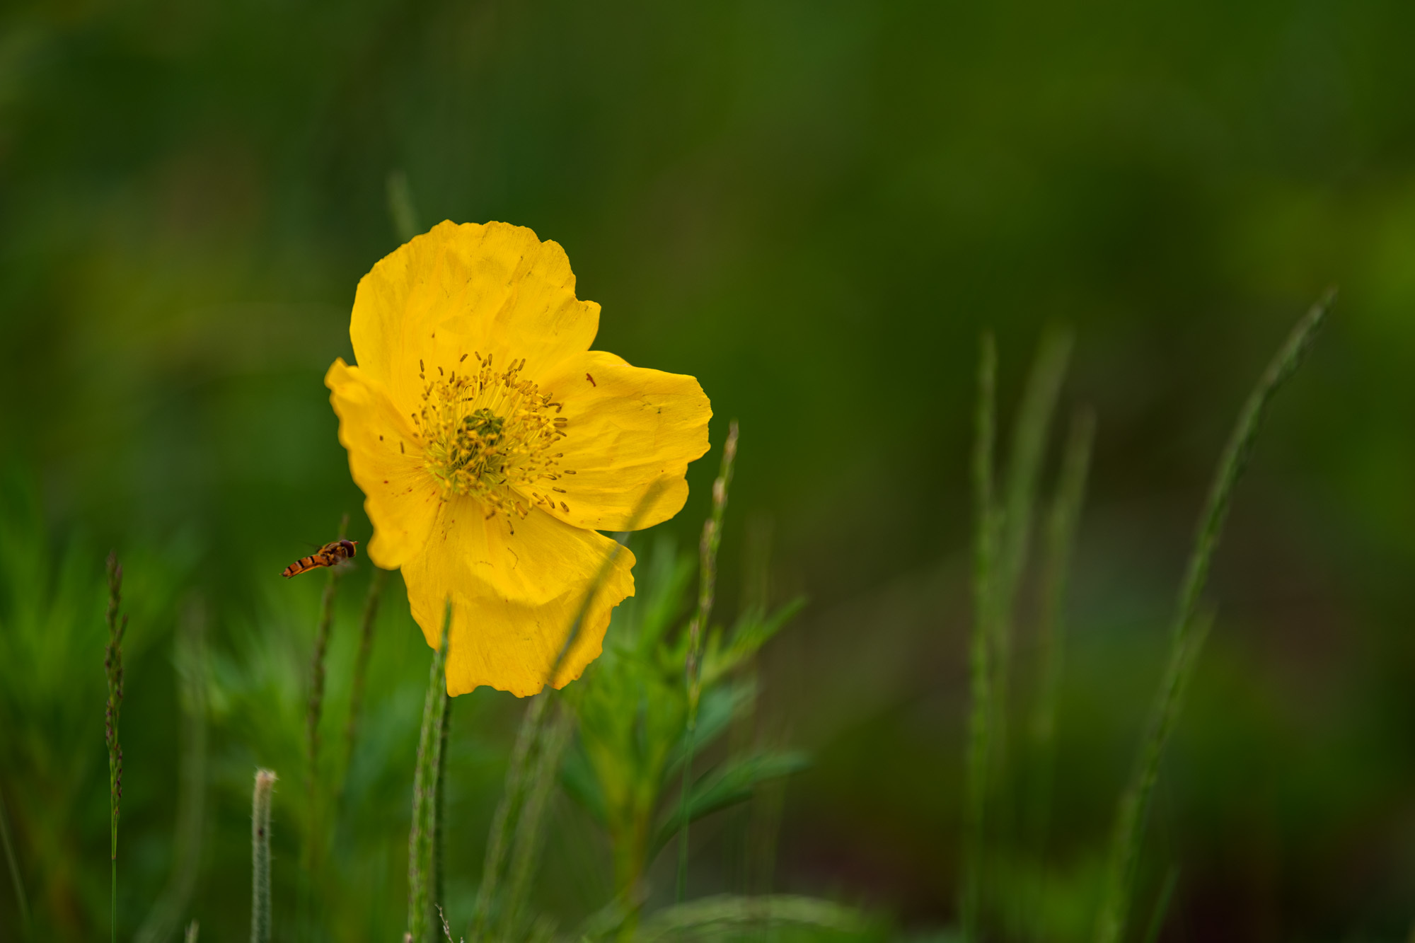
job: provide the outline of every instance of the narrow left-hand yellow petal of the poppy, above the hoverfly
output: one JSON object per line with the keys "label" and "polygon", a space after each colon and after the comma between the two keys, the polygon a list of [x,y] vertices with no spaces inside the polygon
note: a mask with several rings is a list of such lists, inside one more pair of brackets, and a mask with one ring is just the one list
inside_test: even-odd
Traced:
{"label": "narrow left-hand yellow petal of the poppy, above the hoverfly", "polygon": [[383,569],[402,566],[427,542],[441,503],[436,480],[423,467],[417,436],[382,384],[358,367],[335,360],[324,385],[340,418],[350,471],[364,490],[364,510],[374,524],[368,556]]}

